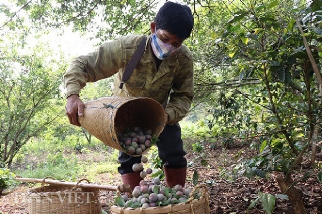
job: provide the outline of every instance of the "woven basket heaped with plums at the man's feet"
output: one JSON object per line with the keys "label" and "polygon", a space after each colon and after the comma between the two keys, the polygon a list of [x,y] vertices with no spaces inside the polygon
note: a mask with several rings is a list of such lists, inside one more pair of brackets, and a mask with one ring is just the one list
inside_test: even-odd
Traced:
{"label": "woven basket heaped with plums at the man's feet", "polygon": [[149,208],[124,208],[112,205],[112,214],[209,214],[209,194],[205,185],[197,185],[192,192],[202,191],[200,199],[192,197],[185,203]]}

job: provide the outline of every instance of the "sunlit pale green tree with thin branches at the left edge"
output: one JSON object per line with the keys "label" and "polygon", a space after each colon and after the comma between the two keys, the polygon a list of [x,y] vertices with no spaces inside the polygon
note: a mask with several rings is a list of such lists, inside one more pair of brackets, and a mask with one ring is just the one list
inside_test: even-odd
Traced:
{"label": "sunlit pale green tree with thin branches at the left edge", "polygon": [[9,166],[28,140],[63,113],[57,106],[64,66],[40,44],[24,49],[19,36],[5,35],[0,51],[0,164]]}

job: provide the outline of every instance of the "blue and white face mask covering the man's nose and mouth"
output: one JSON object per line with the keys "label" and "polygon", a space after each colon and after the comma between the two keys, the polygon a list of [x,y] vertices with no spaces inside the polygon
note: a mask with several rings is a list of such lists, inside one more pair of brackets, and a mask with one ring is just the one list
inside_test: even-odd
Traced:
{"label": "blue and white face mask covering the man's nose and mouth", "polygon": [[178,52],[181,48],[181,46],[174,47],[171,44],[163,42],[156,35],[156,33],[154,33],[151,37],[151,46],[152,46],[153,53],[160,60],[167,59],[168,57]]}

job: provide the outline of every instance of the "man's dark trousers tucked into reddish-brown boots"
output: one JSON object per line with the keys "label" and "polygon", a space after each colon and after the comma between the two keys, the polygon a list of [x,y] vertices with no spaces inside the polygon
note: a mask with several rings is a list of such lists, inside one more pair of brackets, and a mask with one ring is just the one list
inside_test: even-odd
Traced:
{"label": "man's dark trousers tucked into reddish-brown boots", "polygon": [[[164,162],[164,167],[182,168],[186,167],[187,160],[184,157],[186,152],[183,150],[183,142],[181,139],[181,127],[179,123],[166,125],[163,132],[159,136],[159,141],[156,143],[160,159]],[[124,152],[119,152],[118,171],[121,175],[132,173],[134,163],[141,162],[141,156],[133,157]]]}

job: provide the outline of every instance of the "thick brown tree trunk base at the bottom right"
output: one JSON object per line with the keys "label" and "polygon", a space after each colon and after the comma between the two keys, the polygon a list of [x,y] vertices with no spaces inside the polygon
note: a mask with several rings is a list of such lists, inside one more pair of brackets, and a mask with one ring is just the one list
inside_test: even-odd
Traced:
{"label": "thick brown tree trunk base at the bottom right", "polygon": [[298,191],[298,189],[296,189],[293,185],[292,182],[285,178],[283,178],[282,176],[277,177],[277,181],[278,184],[280,186],[280,189],[282,191],[282,193],[285,193],[290,201],[291,204],[294,208],[294,213],[295,214],[306,214],[306,210],[305,210],[305,206],[301,197],[301,193],[300,191]]}

